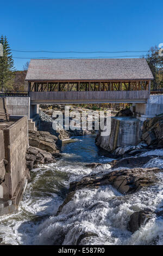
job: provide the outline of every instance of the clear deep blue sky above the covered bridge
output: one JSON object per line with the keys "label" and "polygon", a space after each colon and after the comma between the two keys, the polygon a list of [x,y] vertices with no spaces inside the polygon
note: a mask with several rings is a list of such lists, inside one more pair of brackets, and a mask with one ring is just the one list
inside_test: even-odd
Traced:
{"label": "clear deep blue sky above the covered bridge", "polygon": [[[163,43],[161,1],[1,1],[0,33],[13,50],[129,51]],[[27,53],[14,57],[96,57],[143,53]],[[14,58],[22,69],[29,59]]]}

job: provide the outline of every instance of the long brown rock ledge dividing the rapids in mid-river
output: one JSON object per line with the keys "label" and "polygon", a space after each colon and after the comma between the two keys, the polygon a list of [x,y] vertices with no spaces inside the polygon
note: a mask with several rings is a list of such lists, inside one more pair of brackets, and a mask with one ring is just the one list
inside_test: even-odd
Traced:
{"label": "long brown rock ledge dividing the rapids in mid-river", "polygon": [[96,189],[103,185],[111,185],[122,194],[132,194],[157,182],[158,179],[155,174],[159,171],[161,171],[159,168],[134,168],[115,170],[102,176],[98,174],[85,176],[80,181],[70,183],[69,193],[64,203],[59,207],[58,213],[65,204],[73,199],[77,190],[84,188]]}

